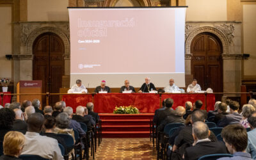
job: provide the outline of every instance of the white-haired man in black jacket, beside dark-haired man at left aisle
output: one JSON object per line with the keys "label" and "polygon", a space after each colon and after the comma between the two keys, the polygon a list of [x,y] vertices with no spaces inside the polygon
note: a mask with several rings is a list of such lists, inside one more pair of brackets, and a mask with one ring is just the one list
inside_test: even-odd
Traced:
{"label": "white-haired man in black jacket, beside dark-haired man at left aisle", "polygon": [[84,108],[83,106],[78,106],[76,108],[76,115],[72,116],[72,120],[76,120],[77,122],[81,122],[87,125],[88,129],[92,129],[92,124],[88,117],[84,117]]}

